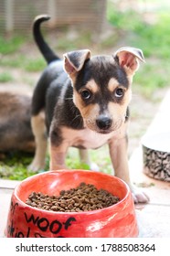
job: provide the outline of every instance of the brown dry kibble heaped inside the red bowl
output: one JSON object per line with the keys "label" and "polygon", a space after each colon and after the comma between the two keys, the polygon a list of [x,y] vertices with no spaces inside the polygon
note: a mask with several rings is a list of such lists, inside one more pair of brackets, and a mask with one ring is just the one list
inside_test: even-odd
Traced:
{"label": "brown dry kibble heaped inside the red bowl", "polygon": [[110,207],[119,202],[119,197],[112,196],[104,189],[80,183],[79,187],[60,191],[59,196],[48,196],[41,192],[32,192],[27,198],[27,205],[35,208],[60,211],[80,212]]}

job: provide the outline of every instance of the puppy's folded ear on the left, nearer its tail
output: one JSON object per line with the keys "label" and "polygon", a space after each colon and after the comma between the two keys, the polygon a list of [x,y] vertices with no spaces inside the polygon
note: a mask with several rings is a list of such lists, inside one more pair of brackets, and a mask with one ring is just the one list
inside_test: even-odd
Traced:
{"label": "puppy's folded ear on the left, nearer its tail", "polygon": [[90,50],[82,49],[70,51],[64,56],[64,69],[70,77],[74,76],[80,69],[82,69],[86,59],[90,59]]}

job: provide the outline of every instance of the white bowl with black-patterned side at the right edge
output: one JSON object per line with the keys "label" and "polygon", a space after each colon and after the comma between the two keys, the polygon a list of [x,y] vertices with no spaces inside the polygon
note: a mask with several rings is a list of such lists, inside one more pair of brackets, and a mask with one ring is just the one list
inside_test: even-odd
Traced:
{"label": "white bowl with black-patterned side at the right edge", "polygon": [[170,133],[145,135],[143,173],[155,179],[170,181]]}

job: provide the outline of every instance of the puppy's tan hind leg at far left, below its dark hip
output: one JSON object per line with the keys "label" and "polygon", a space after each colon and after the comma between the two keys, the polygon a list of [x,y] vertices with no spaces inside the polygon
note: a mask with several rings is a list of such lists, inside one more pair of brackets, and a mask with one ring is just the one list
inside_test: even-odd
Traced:
{"label": "puppy's tan hind leg at far left, below its dark hip", "polygon": [[33,162],[28,166],[28,168],[30,170],[37,171],[40,169],[44,169],[45,167],[46,151],[48,144],[44,112],[39,112],[38,115],[33,116],[31,118],[31,125],[36,141],[36,154]]}

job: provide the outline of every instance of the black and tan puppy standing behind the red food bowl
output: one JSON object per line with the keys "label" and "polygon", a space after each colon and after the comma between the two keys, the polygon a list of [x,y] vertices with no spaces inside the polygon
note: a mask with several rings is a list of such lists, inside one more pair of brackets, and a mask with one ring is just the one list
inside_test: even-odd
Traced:
{"label": "black and tan puppy standing behind the red food bowl", "polygon": [[131,84],[143,52],[120,48],[111,56],[90,57],[90,50],[83,49],[64,54],[63,61],[41,36],[40,24],[48,19],[37,16],[33,25],[48,67],[33,93],[31,123],[37,148],[30,168],[44,167],[48,135],[50,170],[65,168],[69,146],[79,148],[81,160],[90,165],[87,149],[109,144],[115,176],[131,187],[134,202],[146,202],[148,197],[130,182],[127,157]]}

